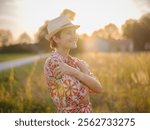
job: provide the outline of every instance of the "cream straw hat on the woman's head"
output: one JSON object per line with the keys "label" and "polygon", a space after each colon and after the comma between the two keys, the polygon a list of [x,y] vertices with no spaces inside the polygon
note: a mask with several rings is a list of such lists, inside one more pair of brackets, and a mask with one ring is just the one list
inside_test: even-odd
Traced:
{"label": "cream straw hat on the woman's head", "polygon": [[48,21],[47,23],[47,31],[48,31],[48,34],[45,36],[45,38],[47,40],[50,40],[50,38],[56,34],[57,32],[61,31],[62,29],[65,29],[65,28],[69,28],[69,27],[74,27],[75,29],[79,28],[80,26],[79,25],[74,25],[70,22],[70,20],[62,15],[62,16],[59,16],[51,21]]}

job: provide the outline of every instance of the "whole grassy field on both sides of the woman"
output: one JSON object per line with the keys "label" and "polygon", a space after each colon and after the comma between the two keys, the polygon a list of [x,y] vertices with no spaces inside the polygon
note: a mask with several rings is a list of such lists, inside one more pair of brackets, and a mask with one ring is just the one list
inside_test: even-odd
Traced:
{"label": "whole grassy field on both sides of the woman", "polygon": [[[103,86],[94,112],[150,112],[150,53],[83,53]],[[43,75],[44,60],[0,72],[0,112],[57,112]]]}

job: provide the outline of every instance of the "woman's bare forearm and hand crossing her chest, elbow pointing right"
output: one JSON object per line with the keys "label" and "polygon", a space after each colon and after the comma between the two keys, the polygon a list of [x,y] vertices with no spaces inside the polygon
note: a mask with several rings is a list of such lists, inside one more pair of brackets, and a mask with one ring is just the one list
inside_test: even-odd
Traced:
{"label": "woman's bare forearm and hand crossing her chest, elbow pointing right", "polygon": [[74,76],[75,78],[77,78],[78,80],[86,84],[89,87],[89,89],[93,90],[96,93],[100,93],[102,91],[101,84],[95,78],[89,76],[86,73],[86,71],[85,72],[81,72],[81,71],[63,62],[60,62],[59,66],[54,69],[54,76],[56,78],[60,78],[62,74]]}

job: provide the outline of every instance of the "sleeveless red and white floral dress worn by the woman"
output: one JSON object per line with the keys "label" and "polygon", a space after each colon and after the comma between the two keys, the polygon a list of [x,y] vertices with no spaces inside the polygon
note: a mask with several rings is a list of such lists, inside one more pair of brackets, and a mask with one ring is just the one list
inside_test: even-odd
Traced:
{"label": "sleeveless red and white floral dress worn by the woman", "polygon": [[88,96],[88,87],[70,75],[63,74],[60,79],[56,79],[53,75],[53,70],[58,66],[59,61],[63,61],[71,67],[79,69],[77,66],[77,58],[68,56],[67,61],[58,53],[52,52],[51,56],[47,58],[44,65],[44,74],[48,84],[50,96],[56,105],[58,112],[67,113],[90,113],[92,112],[92,105],[90,100],[87,103],[82,103],[82,100]]}

